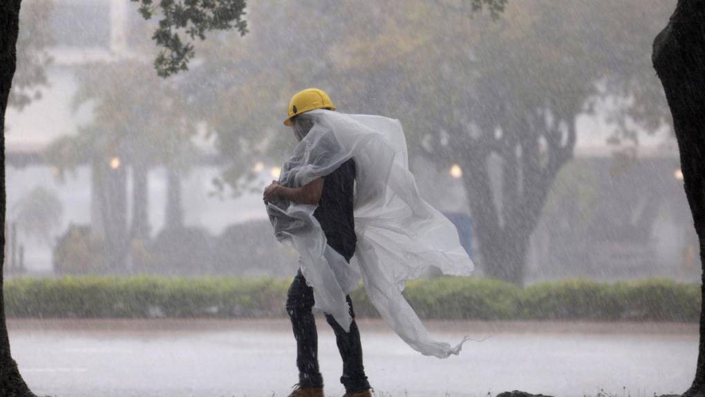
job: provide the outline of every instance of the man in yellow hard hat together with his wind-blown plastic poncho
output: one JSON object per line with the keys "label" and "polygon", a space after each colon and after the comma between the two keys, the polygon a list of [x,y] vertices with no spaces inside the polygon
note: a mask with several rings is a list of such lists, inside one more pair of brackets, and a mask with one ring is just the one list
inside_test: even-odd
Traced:
{"label": "man in yellow hard hat together with his wind-blown plastic poncho", "polygon": [[292,97],[284,124],[299,143],[264,190],[276,238],[300,255],[286,303],[299,368],[290,397],[324,396],[314,308],[336,334],[344,397],[372,396],[349,295],[361,278],[381,317],[419,353],[447,358],[465,342],[434,340],[401,294],[431,269],[467,276],[473,265],[455,226],[419,197],[400,122],[335,110],[318,89]]}

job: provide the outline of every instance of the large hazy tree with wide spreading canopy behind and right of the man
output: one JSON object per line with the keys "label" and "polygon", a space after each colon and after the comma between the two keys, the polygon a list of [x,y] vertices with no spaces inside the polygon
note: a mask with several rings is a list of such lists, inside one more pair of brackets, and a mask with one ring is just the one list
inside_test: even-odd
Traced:
{"label": "large hazy tree with wide spreading canopy behind and right of the man", "polygon": [[[242,44],[214,37],[192,71],[208,130],[233,159],[223,182],[241,190],[255,161],[281,160],[294,143],[280,127],[287,99],[321,87],[341,111],[400,118],[412,154],[439,169],[459,164],[486,274],[522,283],[546,195],[572,158],[577,116],[617,97],[622,139],[666,122],[644,71],[644,37],[668,4],[502,1],[501,18],[491,8],[473,14],[473,4],[253,5]],[[286,28],[259,32],[270,25]]]}

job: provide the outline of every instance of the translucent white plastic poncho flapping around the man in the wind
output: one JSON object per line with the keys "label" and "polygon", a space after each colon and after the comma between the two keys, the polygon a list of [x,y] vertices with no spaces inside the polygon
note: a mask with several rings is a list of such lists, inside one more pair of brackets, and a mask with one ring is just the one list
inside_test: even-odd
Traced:
{"label": "translucent white plastic poncho flapping around the man in the wind", "polygon": [[467,276],[473,264],[455,226],[419,197],[400,122],[327,110],[299,117],[310,118],[313,126],[283,164],[278,183],[306,185],[350,158],[356,168],[357,248],[350,264],[326,244],[313,216],[315,205],[267,203],[276,238],[299,252],[302,273],[314,291],[314,307],[349,330],[352,319],[345,295],[362,277],[369,300],[409,346],[438,358],[460,353],[467,338],[455,346],[434,340],[402,295],[405,281],[431,267]]}

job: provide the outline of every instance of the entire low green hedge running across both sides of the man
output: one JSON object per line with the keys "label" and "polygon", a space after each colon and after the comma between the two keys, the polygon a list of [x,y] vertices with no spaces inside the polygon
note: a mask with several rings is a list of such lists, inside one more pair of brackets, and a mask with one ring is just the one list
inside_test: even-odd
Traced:
{"label": "entire low green hedge running across both sides of the man", "polygon": [[[268,278],[64,277],[5,283],[8,317],[278,317],[290,280]],[[404,295],[427,319],[650,320],[696,322],[696,284],[666,279],[541,283],[527,288],[490,279],[407,284]],[[358,317],[377,317],[364,290]]]}

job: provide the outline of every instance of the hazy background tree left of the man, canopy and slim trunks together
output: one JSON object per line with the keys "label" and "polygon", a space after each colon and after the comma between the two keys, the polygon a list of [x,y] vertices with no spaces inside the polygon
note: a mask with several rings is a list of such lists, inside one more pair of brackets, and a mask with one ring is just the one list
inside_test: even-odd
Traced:
{"label": "hazy background tree left of the man, canopy and slim trunks together", "polygon": [[[167,215],[176,221],[167,224],[180,224],[179,171],[188,168],[197,153],[191,140],[197,130],[190,116],[191,99],[180,81],[158,78],[140,61],[87,66],[79,76],[74,108],[92,106],[92,121],[78,135],[58,138],[47,150],[60,176],[92,162],[102,238],[116,269],[124,267],[131,240],[149,237],[147,174],[154,166],[165,166],[170,176]],[[133,177],[130,231],[125,208],[128,167]]]}

